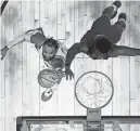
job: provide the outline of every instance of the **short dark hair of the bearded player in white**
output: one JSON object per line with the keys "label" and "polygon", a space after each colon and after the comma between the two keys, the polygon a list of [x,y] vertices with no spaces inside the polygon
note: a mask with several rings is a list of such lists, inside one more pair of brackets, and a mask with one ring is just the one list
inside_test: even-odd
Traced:
{"label": "short dark hair of the bearded player in white", "polygon": [[58,40],[54,40],[53,38],[47,39],[43,44],[47,44],[49,47],[55,47],[55,49],[59,49]]}

